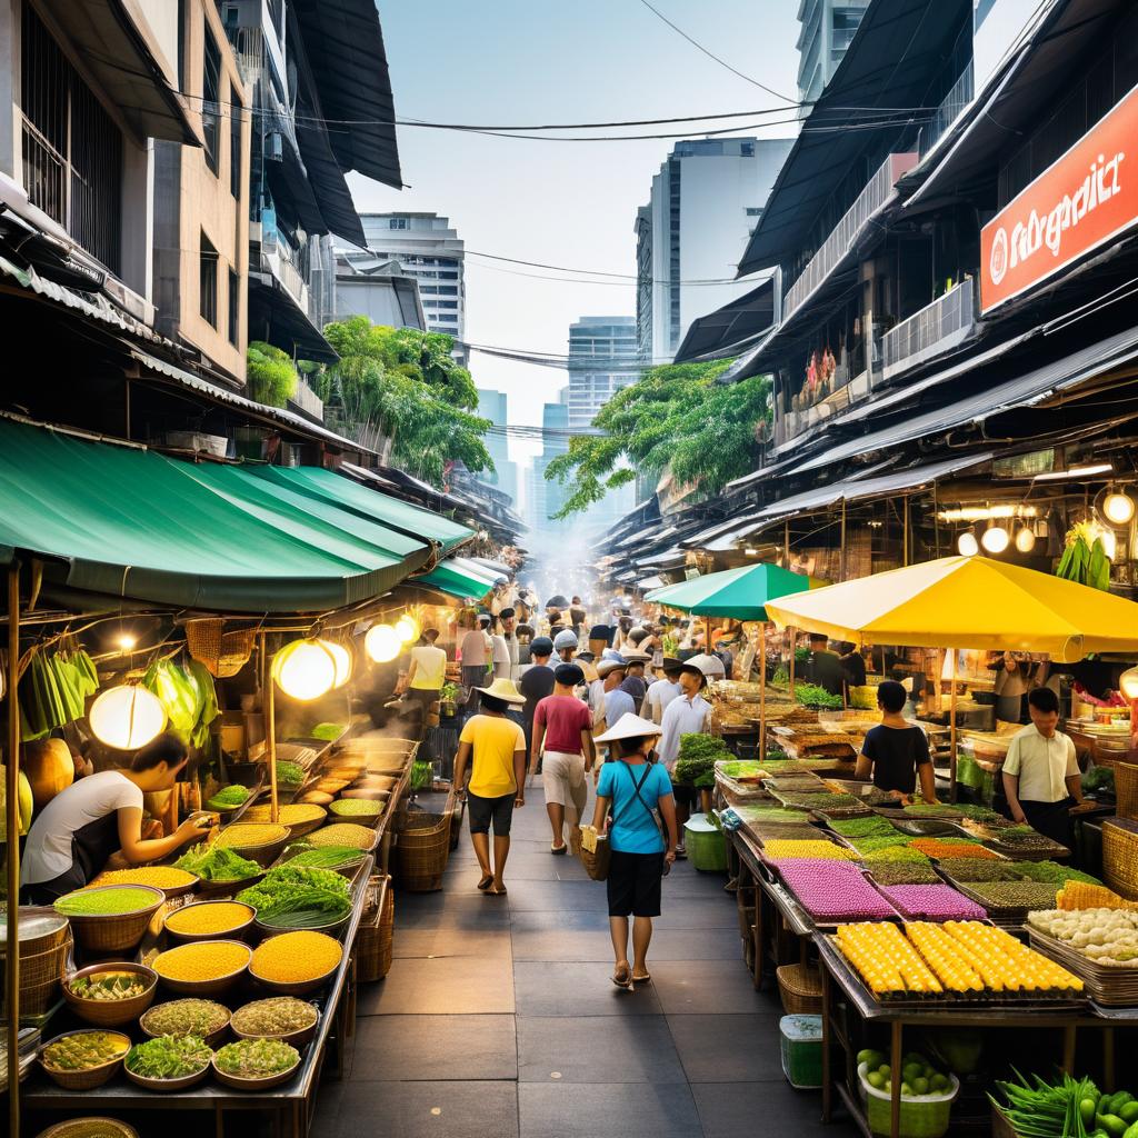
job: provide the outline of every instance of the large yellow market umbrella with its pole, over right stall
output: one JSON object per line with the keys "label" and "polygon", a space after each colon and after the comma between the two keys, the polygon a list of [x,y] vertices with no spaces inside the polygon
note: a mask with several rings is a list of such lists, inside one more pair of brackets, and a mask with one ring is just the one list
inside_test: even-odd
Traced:
{"label": "large yellow market umbrella with its pole, over right stall", "polygon": [[[940,558],[767,604],[780,627],[858,644],[1046,652],[1138,652],[1138,604],[1102,589],[990,558]],[[951,786],[956,794],[956,652]]]}

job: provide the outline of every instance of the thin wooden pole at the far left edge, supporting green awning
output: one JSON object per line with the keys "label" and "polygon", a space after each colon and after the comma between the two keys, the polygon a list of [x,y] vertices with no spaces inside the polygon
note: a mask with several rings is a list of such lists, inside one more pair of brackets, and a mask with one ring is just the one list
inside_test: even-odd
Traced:
{"label": "thin wooden pole at the far left edge, supporting green awning", "polygon": [[19,562],[8,569],[8,745],[5,825],[8,844],[8,1133],[19,1138]]}

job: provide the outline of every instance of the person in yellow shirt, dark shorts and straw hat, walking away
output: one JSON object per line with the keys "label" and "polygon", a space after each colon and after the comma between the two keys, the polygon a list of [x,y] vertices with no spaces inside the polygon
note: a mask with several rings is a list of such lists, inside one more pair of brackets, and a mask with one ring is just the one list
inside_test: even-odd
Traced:
{"label": "person in yellow shirt, dark shorts and straw hat, walking away", "polygon": [[[504,897],[502,873],[510,855],[510,824],[514,808],[526,805],[526,736],[521,727],[506,717],[506,709],[525,703],[526,696],[512,679],[504,678],[476,691],[479,714],[467,720],[459,736],[454,785],[467,799],[470,842],[481,869],[478,888],[490,897]],[[465,780],[468,765],[469,782]]]}

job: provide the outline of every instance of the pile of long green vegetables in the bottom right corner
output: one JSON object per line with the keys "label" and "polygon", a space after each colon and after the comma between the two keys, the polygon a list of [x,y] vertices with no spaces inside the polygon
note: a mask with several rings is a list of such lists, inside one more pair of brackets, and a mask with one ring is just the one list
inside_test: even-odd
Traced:
{"label": "pile of long green vegetables in the bottom right corner", "polygon": [[1128,1090],[1103,1095],[1090,1079],[1047,1082],[1033,1074],[996,1083],[1000,1108],[1021,1138],[1138,1138],[1138,1099]]}

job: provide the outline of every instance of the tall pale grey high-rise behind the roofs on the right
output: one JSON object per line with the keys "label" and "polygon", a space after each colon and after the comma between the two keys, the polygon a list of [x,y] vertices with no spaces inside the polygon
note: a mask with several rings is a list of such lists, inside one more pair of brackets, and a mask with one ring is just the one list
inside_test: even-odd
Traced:
{"label": "tall pale grey high-rise behind the roofs on the right", "polygon": [[667,363],[693,320],[754,288],[753,279],[736,281],[735,273],[792,145],[678,142],[652,179],[651,199],[635,223],[642,362]]}

